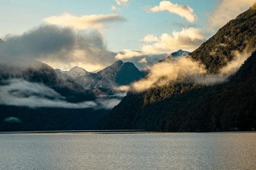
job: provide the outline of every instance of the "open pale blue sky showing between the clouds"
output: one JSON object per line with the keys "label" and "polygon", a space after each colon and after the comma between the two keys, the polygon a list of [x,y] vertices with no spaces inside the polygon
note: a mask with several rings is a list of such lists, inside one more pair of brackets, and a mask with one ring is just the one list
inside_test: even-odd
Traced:
{"label": "open pale blue sky showing between the clouds", "polygon": [[[124,49],[138,49],[142,45],[139,40],[147,34],[161,35],[162,33],[171,34],[173,30],[181,30],[180,26],[172,22],[180,22],[189,25],[185,18],[181,18],[169,12],[147,13],[141,9],[146,5],[159,5],[161,0],[133,0],[128,7],[118,6],[114,0],[1,0],[0,38],[6,34],[21,34],[28,29],[43,24],[43,18],[52,15],[60,15],[69,12],[72,15],[90,14],[110,14],[116,13],[123,15],[127,22],[115,25],[111,29],[104,29],[105,41],[108,48],[112,51]],[[198,28],[206,26],[206,15],[216,4],[214,0],[173,0],[172,3],[189,5],[195,10],[198,20],[194,23]],[[121,7],[122,12],[112,11],[114,5]]]}

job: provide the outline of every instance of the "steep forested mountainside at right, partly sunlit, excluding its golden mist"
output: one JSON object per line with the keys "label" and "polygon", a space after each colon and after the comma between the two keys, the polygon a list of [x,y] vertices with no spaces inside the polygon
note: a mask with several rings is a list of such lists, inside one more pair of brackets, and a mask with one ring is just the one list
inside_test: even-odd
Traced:
{"label": "steep forested mountainside at right, partly sunlit, excluding its golden mist", "polygon": [[[235,52],[256,47],[256,3],[229,21],[189,57],[205,65],[213,76],[234,59]],[[152,131],[255,131],[256,52],[236,74],[216,85],[184,79],[130,90],[96,129],[147,129]]]}

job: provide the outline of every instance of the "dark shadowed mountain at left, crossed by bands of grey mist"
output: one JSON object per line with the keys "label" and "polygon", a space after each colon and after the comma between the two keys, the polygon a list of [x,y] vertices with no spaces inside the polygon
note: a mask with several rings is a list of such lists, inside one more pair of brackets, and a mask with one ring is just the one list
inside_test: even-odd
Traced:
{"label": "dark shadowed mountain at left, crossed by bands of grey mist", "polygon": [[94,130],[126,93],[86,90],[36,60],[0,56],[0,132]]}

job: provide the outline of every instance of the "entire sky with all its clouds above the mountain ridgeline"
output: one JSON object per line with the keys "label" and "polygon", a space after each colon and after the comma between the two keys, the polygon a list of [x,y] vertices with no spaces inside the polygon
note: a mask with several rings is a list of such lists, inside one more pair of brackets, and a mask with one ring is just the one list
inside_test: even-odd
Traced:
{"label": "entire sky with all its clouds above the mountain ridgeline", "polygon": [[0,55],[61,70],[94,71],[117,60],[147,69],[171,52],[196,50],[254,1],[0,0]]}

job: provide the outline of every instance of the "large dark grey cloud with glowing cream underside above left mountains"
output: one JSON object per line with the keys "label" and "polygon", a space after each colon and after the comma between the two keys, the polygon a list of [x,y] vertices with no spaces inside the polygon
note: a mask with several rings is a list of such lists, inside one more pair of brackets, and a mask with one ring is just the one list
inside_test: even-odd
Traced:
{"label": "large dark grey cloud with glowing cream underside above left mountains", "polygon": [[22,35],[8,35],[0,56],[35,59],[53,68],[80,66],[94,71],[115,62],[116,53],[107,50],[103,35],[96,31],[75,32],[71,28],[41,25]]}

